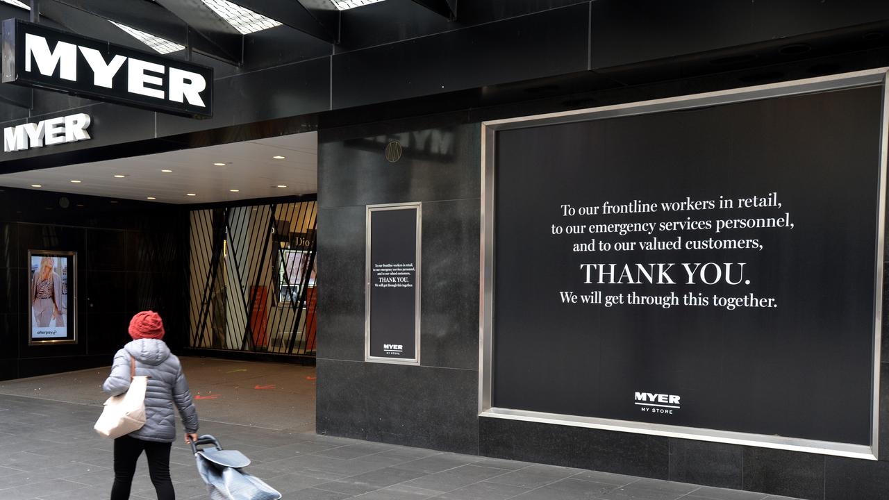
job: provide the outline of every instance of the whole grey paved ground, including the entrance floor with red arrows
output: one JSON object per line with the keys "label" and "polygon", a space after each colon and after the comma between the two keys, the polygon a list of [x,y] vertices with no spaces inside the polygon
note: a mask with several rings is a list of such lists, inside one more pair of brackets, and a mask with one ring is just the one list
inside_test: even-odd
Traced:
{"label": "whole grey paved ground, including the entrance floor with red arrows", "polygon": [[[269,367],[188,359],[189,382],[200,399],[201,433],[213,434],[224,448],[252,459],[248,472],[294,500],[777,500],[783,496],[700,487],[541,464],[441,453],[361,440],[317,436],[304,431],[300,416],[314,400],[302,389],[276,395],[255,386],[301,387],[314,380],[307,367]],[[228,363],[228,364],[226,364]],[[237,371],[235,371],[237,370]],[[242,371],[243,370],[243,371]],[[306,370],[311,375],[307,375]],[[102,500],[108,498],[112,441],[92,431],[100,414],[95,381],[108,370],[82,370],[0,383],[0,500]],[[274,373],[271,373],[274,372]],[[226,376],[221,376],[226,375]],[[99,380],[99,383],[101,380]],[[211,385],[211,383],[213,383]],[[271,384],[271,383],[268,383]],[[78,387],[81,389],[78,391]],[[245,388],[249,387],[250,391]],[[236,388],[241,398],[231,394]],[[28,394],[28,396],[25,396]],[[290,402],[274,406],[281,397]],[[292,399],[297,399],[295,402]],[[56,400],[65,399],[65,400]],[[81,401],[81,402],[77,402]],[[266,401],[263,403],[262,401]],[[89,404],[86,404],[89,402]],[[211,403],[213,407],[207,405]],[[271,405],[265,407],[264,404]],[[260,406],[257,406],[260,405]],[[300,407],[299,411],[291,406]],[[262,411],[257,411],[262,408]],[[284,415],[259,415],[280,412]],[[227,423],[210,422],[224,415]],[[239,422],[252,423],[243,425]],[[265,419],[265,420],[263,420]],[[294,420],[295,419],[295,420]],[[257,422],[268,426],[260,426]],[[179,437],[181,439],[181,436]],[[195,458],[180,440],[173,444],[172,478],[177,498],[206,499]],[[140,458],[132,499],[156,498]]]}

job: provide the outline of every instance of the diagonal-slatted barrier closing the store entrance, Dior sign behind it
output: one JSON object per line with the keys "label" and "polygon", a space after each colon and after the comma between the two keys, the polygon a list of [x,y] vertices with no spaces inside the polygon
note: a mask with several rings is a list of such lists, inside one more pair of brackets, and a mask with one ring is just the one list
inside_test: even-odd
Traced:
{"label": "diagonal-slatted barrier closing the store entrance, Dior sign behind it", "polygon": [[190,213],[194,349],[314,357],[314,199]]}

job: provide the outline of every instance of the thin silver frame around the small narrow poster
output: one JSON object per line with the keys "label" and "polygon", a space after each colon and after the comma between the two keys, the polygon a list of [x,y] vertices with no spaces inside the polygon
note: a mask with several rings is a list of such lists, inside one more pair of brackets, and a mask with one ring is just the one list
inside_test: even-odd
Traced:
{"label": "thin silver frame around the small narrow poster", "polygon": [[[414,257],[416,280],[414,291],[414,341],[412,359],[393,359],[380,356],[371,356],[371,214],[373,212],[388,210],[416,210],[416,256]],[[364,220],[364,361],[372,363],[388,363],[393,365],[420,366],[420,289],[422,284],[422,226],[423,226],[422,202],[389,203],[382,205],[368,205],[365,207]]]}

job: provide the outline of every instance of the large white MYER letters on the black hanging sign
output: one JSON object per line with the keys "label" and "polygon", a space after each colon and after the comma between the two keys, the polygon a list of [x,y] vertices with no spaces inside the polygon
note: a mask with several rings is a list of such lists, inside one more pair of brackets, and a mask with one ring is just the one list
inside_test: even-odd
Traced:
{"label": "large white MYER letters on the black hanging sign", "polygon": [[78,53],[92,70],[90,83],[93,86],[114,88],[115,77],[125,63],[126,83],[123,88],[126,92],[207,108],[200,95],[207,88],[207,81],[198,73],[121,54],[108,61],[102,52],[94,48],[68,42],[57,42],[55,48],[50,50],[50,42],[44,36],[25,34],[26,72],[53,77],[58,69],[61,79],[84,82],[85,77],[77,75]]}

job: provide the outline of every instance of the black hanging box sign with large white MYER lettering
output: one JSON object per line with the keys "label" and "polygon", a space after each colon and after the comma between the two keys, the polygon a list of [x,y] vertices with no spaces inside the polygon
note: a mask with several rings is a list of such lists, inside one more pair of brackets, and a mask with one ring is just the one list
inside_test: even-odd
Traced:
{"label": "black hanging box sign with large white MYER lettering", "polygon": [[183,115],[212,116],[211,68],[3,21],[3,81]]}

